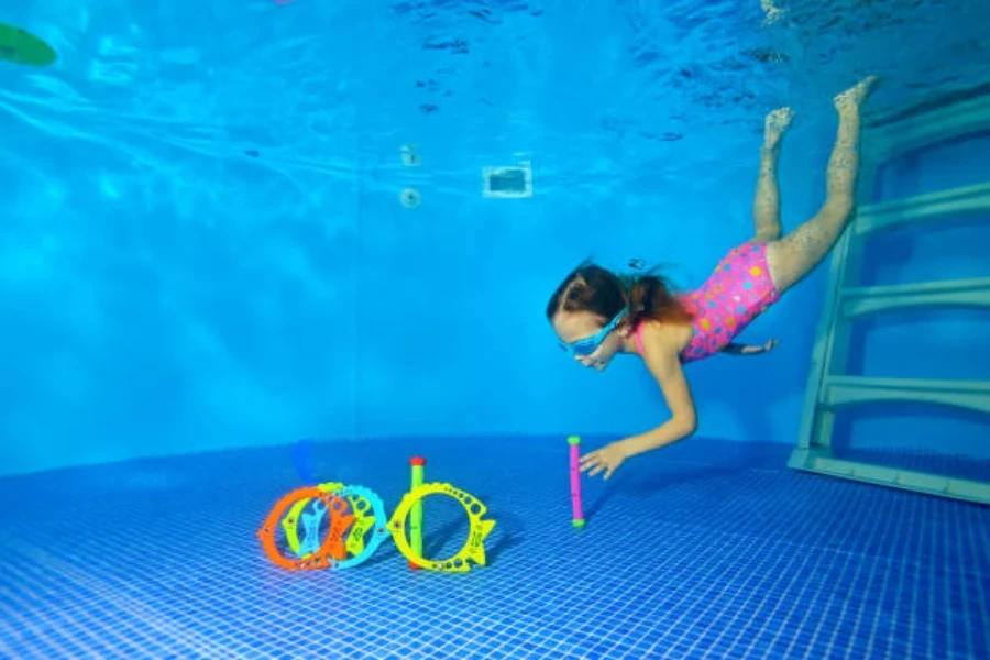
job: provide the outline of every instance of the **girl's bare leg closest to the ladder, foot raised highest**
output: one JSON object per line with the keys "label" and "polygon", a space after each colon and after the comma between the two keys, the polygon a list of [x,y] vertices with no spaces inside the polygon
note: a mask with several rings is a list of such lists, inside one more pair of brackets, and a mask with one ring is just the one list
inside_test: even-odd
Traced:
{"label": "girl's bare leg closest to the ladder, foot raised highest", "polygon": [[828,160],[825,204],[814,218],[783,239],[767,245],[770,278],[780,294],[818,265],[853,217],[856,174],[859,168],[859,106],[876,81],[876,77],[866,78],[835,97],[839,127],[832,157]]}

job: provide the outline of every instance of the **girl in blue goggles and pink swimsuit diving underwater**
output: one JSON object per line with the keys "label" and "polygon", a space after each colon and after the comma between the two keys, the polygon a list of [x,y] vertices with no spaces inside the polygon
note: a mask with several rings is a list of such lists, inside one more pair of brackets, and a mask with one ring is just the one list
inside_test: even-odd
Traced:
{"label": "girl in blue goggles and pink swimsuit diving underwater", "polygon": [[832,250],[853,215],[859,165],[859,107],[876,77],[835,97],[838,135],[826,174],[827,195],[818,213],[781,237],[777,158],[793,112],[767,116],[754,217],[756,237],[733,248],[697,290],[673,296],[653,275],[635,279],[584,263],[550,297],[547,318],[563,348],[584,366],[604,370],[616,353],[642,359],[660,385],[672,417],[659,427],[613,442],[581,458],[581,471],[605,479],[636,454],[694,432],[697,418],[682,365],[723,352],[771,350],[733,343],[757,316],[807,275]]}

